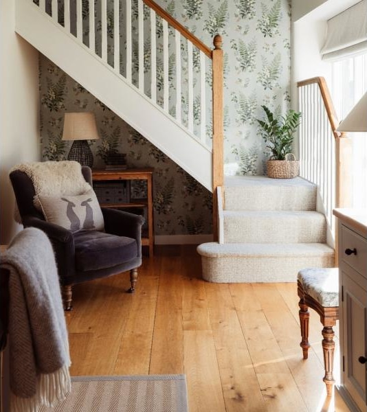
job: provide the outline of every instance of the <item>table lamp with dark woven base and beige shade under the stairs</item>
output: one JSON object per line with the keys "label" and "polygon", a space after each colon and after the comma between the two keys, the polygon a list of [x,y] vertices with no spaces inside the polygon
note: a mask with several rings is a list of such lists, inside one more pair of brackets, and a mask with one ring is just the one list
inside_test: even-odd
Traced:
{"label": "table lamp with dark woven base and beige shade under the stairs", "polygon": [[73,140],[67,160],[93,166],[93,154],[87,140],[99,139],[94,113],[65,113],[63,140]]}

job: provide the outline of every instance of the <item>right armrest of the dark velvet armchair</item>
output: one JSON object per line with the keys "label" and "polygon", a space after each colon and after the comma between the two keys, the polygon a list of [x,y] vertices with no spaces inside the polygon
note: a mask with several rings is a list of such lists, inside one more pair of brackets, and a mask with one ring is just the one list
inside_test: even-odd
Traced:
{"label": "right armrest of the dark velvet armchair", "polygon": [[109,207],[102,207],[102,214],[104,229],[106,229],[107,233],[136,239],[139,245],[144,223],[142,216],[129,213],[128,211],[110,209]]}

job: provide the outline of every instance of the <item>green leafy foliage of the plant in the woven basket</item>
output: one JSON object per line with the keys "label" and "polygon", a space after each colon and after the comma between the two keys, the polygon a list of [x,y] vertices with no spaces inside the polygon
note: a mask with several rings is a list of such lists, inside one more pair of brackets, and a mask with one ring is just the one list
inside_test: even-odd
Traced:
{"label": "green leafy foliage of the plant in the woven basket", "polygon": [[267,148],[271,151],[274,160],[285,160],[291,153],[293,133],[300,126],[300,112],[289,109],[285,116],[276,117],[267,106],[261,106],[266,114],[266,119],[256,119],[262,130],[261,134]]}

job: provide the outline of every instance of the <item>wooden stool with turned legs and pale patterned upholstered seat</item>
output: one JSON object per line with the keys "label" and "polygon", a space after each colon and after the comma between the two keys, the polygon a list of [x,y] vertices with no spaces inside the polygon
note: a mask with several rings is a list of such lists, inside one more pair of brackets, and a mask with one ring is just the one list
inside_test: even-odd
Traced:
{"label": "wooden stool with turned legs and pale patterned upholstered seat", "polygon": [[300,297],[300,324],[303,358],[307,359],[309,352],[309,308],[320,314],[322,329],[322,350],[324,352],[324,367],[326,391],[328,396],[333,393],[333,363],[335,342],[333,326],[339,317],[339,271],[337,268],[307,268],[298,272],[298,297]]}

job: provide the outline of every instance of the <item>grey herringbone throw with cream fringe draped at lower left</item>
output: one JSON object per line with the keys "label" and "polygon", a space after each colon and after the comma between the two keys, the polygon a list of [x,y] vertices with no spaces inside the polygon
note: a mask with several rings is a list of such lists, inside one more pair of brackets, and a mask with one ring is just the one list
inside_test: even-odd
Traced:
{"label": "grey herringbone throw with cream fringe draped at lower left", "polygon": [[69,345],[51,243],[27,228],[1,255],[10,271],[10,410],[36,412],[71,390]]}

